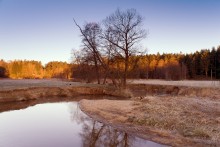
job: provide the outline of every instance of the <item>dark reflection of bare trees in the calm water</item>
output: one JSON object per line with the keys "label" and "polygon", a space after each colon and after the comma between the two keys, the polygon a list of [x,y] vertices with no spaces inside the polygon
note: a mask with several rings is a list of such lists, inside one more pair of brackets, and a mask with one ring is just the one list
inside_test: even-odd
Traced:
{"label": "dark reflection of bare trees in the calm water", "polygon": [[132,146],[135,140],[134,136],[91,119],[80,110],[78,105],[76,109],[74,107],[73,105],[70,106],[71,119],[82,125],[82,131],[79,134],[82,137],[82,146]]}

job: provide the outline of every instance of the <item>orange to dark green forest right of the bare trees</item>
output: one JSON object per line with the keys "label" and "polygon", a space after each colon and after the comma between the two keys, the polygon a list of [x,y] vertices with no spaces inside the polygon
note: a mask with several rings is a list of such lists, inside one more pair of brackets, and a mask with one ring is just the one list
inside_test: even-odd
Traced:
{"label": "orange to dark green forest right of the bare trees", "polygon": [[[146,55],[140,78],[182,80],[220,78],[220,46],[191,54]],[[144,72],[143,72],[144,71]],[[146,74],[147,73],[147,74]]]}

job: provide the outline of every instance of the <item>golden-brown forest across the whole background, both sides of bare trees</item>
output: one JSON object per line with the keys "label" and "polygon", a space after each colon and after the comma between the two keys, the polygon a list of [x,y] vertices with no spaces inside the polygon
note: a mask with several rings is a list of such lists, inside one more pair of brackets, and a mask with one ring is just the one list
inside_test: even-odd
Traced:
{"label": "golden-brown forest across the whole background, both sides of bare trees", "polygon": [[[114,60],[114,64],[110,65],[110,68],[112,72],[117,74],[123,69],[123,64],[116,57],[112,60]],[[133,55],[129,58],[128,67],[128,78],[220,79],[220,46],[213,47],[211,50],[203,49],[191,54]],[[104,76],[101,72],[100,77],[105,78]],[[81,64],[76,61],[71,64],[53,61],[43,66],[39,61],[14,60],[5,62],[0,60],[0,78],[73,78],[91,82],[96,79],[96,72],[93,64]]]}

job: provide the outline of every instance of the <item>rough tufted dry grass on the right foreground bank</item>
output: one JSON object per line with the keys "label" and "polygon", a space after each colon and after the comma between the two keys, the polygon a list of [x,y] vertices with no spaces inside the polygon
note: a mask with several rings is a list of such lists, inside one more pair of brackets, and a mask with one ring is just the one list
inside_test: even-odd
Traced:
{"label": "rough tufted dry grass on the right foreground bank", "polygon": [[[134,99],[134,113],[128,121],[184,137],[220,141],[220,101],[186,97],[144,97]],[[132,118],[132,119],[131,119]]]}

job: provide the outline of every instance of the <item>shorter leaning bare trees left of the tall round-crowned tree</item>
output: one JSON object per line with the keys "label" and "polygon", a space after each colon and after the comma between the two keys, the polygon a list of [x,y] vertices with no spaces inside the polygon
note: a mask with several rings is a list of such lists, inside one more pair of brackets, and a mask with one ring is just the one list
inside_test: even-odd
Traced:
{"label": "shorter leaning bare trees left of the tall round-crowned tree", "polygon": [[[100,84],[100,77],[103,76],[103,84],[106,83],[107,78],[110,78],[112,79],[113,84],[117,86],[115,75],[109,68],[112,63],[112,51],[115,46],[101,38],[101,28],[98,23],[86,23],[82,29],[75,20],[74,22],[81,32],[82,42],[84,45],[80,51],[80,55],[74,55],[75,60],[79,65],[78,71],[86,72],[86,68],[84,67],[90,67],[89,72],[87,71],[87,73],[84,73],[82,78],[90,81],[91,78],[94,77],[92,72],[93,70],[91,69],[94,65],[98,84]],[[102,69],[103,71],[101,71]],[[102,72],[104,75],[101,75]]]}

